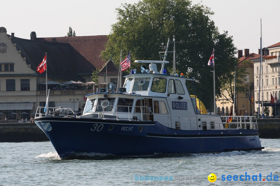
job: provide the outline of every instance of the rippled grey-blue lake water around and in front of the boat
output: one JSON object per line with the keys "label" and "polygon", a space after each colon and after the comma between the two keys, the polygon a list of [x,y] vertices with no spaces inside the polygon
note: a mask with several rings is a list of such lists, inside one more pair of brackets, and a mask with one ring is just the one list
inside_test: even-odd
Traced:
{"label": "rippled grey-blue lake water around and in front of the boat", "polygon": [[[61,160],[49,141],[0,143],[0,185],[280,185],[273,180],[280,177],[280,139],[261,143],[263,151],[142,157],[91,153],[73,160]],[[210,173],[217,176],[213,183]],[[245,174],[247,181],[227,180]]]}

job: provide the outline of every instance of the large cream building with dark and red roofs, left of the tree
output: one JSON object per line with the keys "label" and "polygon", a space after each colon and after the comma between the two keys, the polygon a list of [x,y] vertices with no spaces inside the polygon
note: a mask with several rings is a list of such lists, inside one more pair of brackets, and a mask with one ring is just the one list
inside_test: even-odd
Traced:
{"label": "large cream building with dark and red roofs, left of the tree", "polygon": [[[5,116],[8,120],[29,119],[38,106],[45,106],[46,72],[36,70],[45,53],[48,81],[55,82],[48,85],[51,89],[49,107],[63,105],[82,112],[86,101],[84,96],[94,90],[62,83],[91,81],[93,70],[102,69],[105,64],[99,56],[105,50],[106,41],[107,36],[37,38],[35,32],[31,32],[28,40],[17,38],[14,33],[9,35],[6,28],[0,27],[1,120]],[[118,74],[118,69],[114,70],[117,72],[111,74]]]}

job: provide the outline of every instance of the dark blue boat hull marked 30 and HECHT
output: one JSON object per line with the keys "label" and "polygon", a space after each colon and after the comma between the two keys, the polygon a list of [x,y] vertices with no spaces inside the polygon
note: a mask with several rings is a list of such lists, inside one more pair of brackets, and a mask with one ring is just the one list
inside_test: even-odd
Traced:
{"label": "dark blue boat hull marked 30 and HECHT", "polygon": [[79,152],[137,156],[262,149],[258,129],[184,131],[158,122],[61,117],[38,117],[35,123],[61,158]]}

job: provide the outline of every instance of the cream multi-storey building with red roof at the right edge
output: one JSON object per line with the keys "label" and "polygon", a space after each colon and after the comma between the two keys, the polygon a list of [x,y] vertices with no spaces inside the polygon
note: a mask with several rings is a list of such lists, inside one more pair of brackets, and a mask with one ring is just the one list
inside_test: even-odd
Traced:
{"label": "cream multi-storey building with red roof at the right edge", "polygon": [[[251,59],[254,63],[254,112],[277,116],[280,114],[280,42],[263,48],[262,54],[261,64],[260,54]],[[277,101],[271,104],[272,97],[277,98]]]}

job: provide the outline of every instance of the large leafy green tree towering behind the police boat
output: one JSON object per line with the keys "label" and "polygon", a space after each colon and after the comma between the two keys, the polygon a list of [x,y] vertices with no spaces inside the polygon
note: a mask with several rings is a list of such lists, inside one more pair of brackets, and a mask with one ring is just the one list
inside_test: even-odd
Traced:
{"label": "large leafy green tree towering behind the police boat", "polygon": [[[225,75],[234,71],[236,47],[226,31],[218,32],[210,8],[189,0],[142,0],[116,10],[118,22],[112,25],[101,57],[112,55],[113,61],[119,61],[122,46],[123,54],[131,51],[131,61],[159,60],[158,52],[174,35],[177,68],[196,79],[198,98],[206,108],[213,107],[213,68],[207,62],[215,48],[216,95],[221,95]],[[173,55],[167,61],[172,62]],[[131,68],[139,69],[138,65],[132,63]]]}

